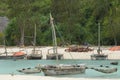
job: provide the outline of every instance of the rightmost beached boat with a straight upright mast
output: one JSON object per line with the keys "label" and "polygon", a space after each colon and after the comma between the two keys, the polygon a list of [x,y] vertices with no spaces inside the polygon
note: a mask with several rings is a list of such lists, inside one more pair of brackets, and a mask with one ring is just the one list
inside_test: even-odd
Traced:
{"label": "rightmost beached boat with a straight upright mast", "polygon": [[108,58],[108,55],[102,54],[102,50],[100,48],[100,23],[98,23],[98,54],[92,54],[91,59],[92,60],[106,60]]}

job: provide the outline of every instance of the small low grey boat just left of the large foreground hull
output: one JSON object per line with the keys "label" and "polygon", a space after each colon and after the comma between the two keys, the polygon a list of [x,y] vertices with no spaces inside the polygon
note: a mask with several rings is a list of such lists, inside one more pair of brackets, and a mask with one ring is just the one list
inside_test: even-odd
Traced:
{"label": "small low grey boat just left of the large foreground hull", "polygon": [[34,73],[40,73],[41,69],[38,68],[23,68],[21,70],[17,70],[18,72],[24,73],[24,74],[34,74]]}

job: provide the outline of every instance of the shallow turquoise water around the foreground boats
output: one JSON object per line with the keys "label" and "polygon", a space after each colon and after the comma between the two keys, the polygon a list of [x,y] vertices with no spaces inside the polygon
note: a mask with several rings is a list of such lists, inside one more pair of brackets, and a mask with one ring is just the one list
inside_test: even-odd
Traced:
{"label": "shallow turquoise water around the foreground boats", "polygon": [[[118,65],[111,65],[110,62],[117,61]],[[74,78],[120,78],[120,60],[0,60],[0,74],[19,74],[19,75],[41,75],[44,74],[37,73],[37,74],[23,74],[17,72],[19,69],[23,68],[33,68],[38,64],[86,64],[87,66],[99,66],[99,65],[106,65],[117,67],[118,71],[115,73],[101,73],[92,69],[87,69],[84,74],[76,74],[76,75],[60,75],[56,77],[74,77]]]}

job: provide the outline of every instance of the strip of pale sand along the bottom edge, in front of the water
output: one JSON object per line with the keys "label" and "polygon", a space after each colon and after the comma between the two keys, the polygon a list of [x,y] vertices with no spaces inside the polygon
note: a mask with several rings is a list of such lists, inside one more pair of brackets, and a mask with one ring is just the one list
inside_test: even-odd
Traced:
{"label": "strip of pale sand along the bottom edge, in front of the water", "polygon": [[50,77],[33,75],[0,75],[1,80],[119,80],[103,78],[68,78],[68,77]]}

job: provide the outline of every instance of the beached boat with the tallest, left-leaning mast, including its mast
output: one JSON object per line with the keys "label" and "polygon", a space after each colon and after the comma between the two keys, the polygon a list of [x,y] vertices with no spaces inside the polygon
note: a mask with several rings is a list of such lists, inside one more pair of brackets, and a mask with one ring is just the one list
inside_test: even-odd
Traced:
{"label": "beached boat with the tallest, left-leaning mast, including its mast", "polygon": [[55,60],[55,59],[63,59],[63,54],[58,53],[57,51],[57,40],[56,40],[56,32],[55,32],[55,27],[53,24],[53,18],[50,14],[50,23],[51,23],[51,27],[52,27],[52,36],[53,36],[53,53],[50,53],[50,49],[48,50],[48,54],[46,55],[46,59],[51,59],[51,60]]}

